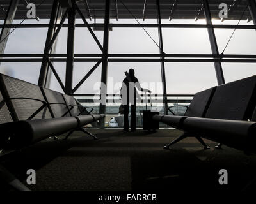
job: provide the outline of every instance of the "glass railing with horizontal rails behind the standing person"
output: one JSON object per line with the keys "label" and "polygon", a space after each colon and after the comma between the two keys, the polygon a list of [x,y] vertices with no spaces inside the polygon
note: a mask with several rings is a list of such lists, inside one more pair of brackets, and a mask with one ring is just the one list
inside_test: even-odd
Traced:
{"label": "glass railing with horizontal rails behind the standing person", "polygon": [[[93,108],[92,113],[99,113],[100,103],[97,100],[100,96],[93,94],[75,94],[74,95],[83,106]],[[164,99],[165,98],[165,99]],[[96,99],[96,101],[95,101]],[[193,95],[152,95],[151,100],[148,96],[141,94],[140,101],[136,103],[136,125],[138,128],[143,127],[143,110],[151,110],[158,112],[160,115],[164,114],[164,103],[167,102],[168,115],[184,115],[186,106],[189,106]],[[106,128],[122,128],[124,126],[124,115],[118,113],[121,105],[120,95],[107,94],[106,96]],[[131,119],[131,108],[129,109],[129,121]],[[161,128],[168,128],[166,124],[160,124]],[[170,128],[170,127],[169,127]]]}

